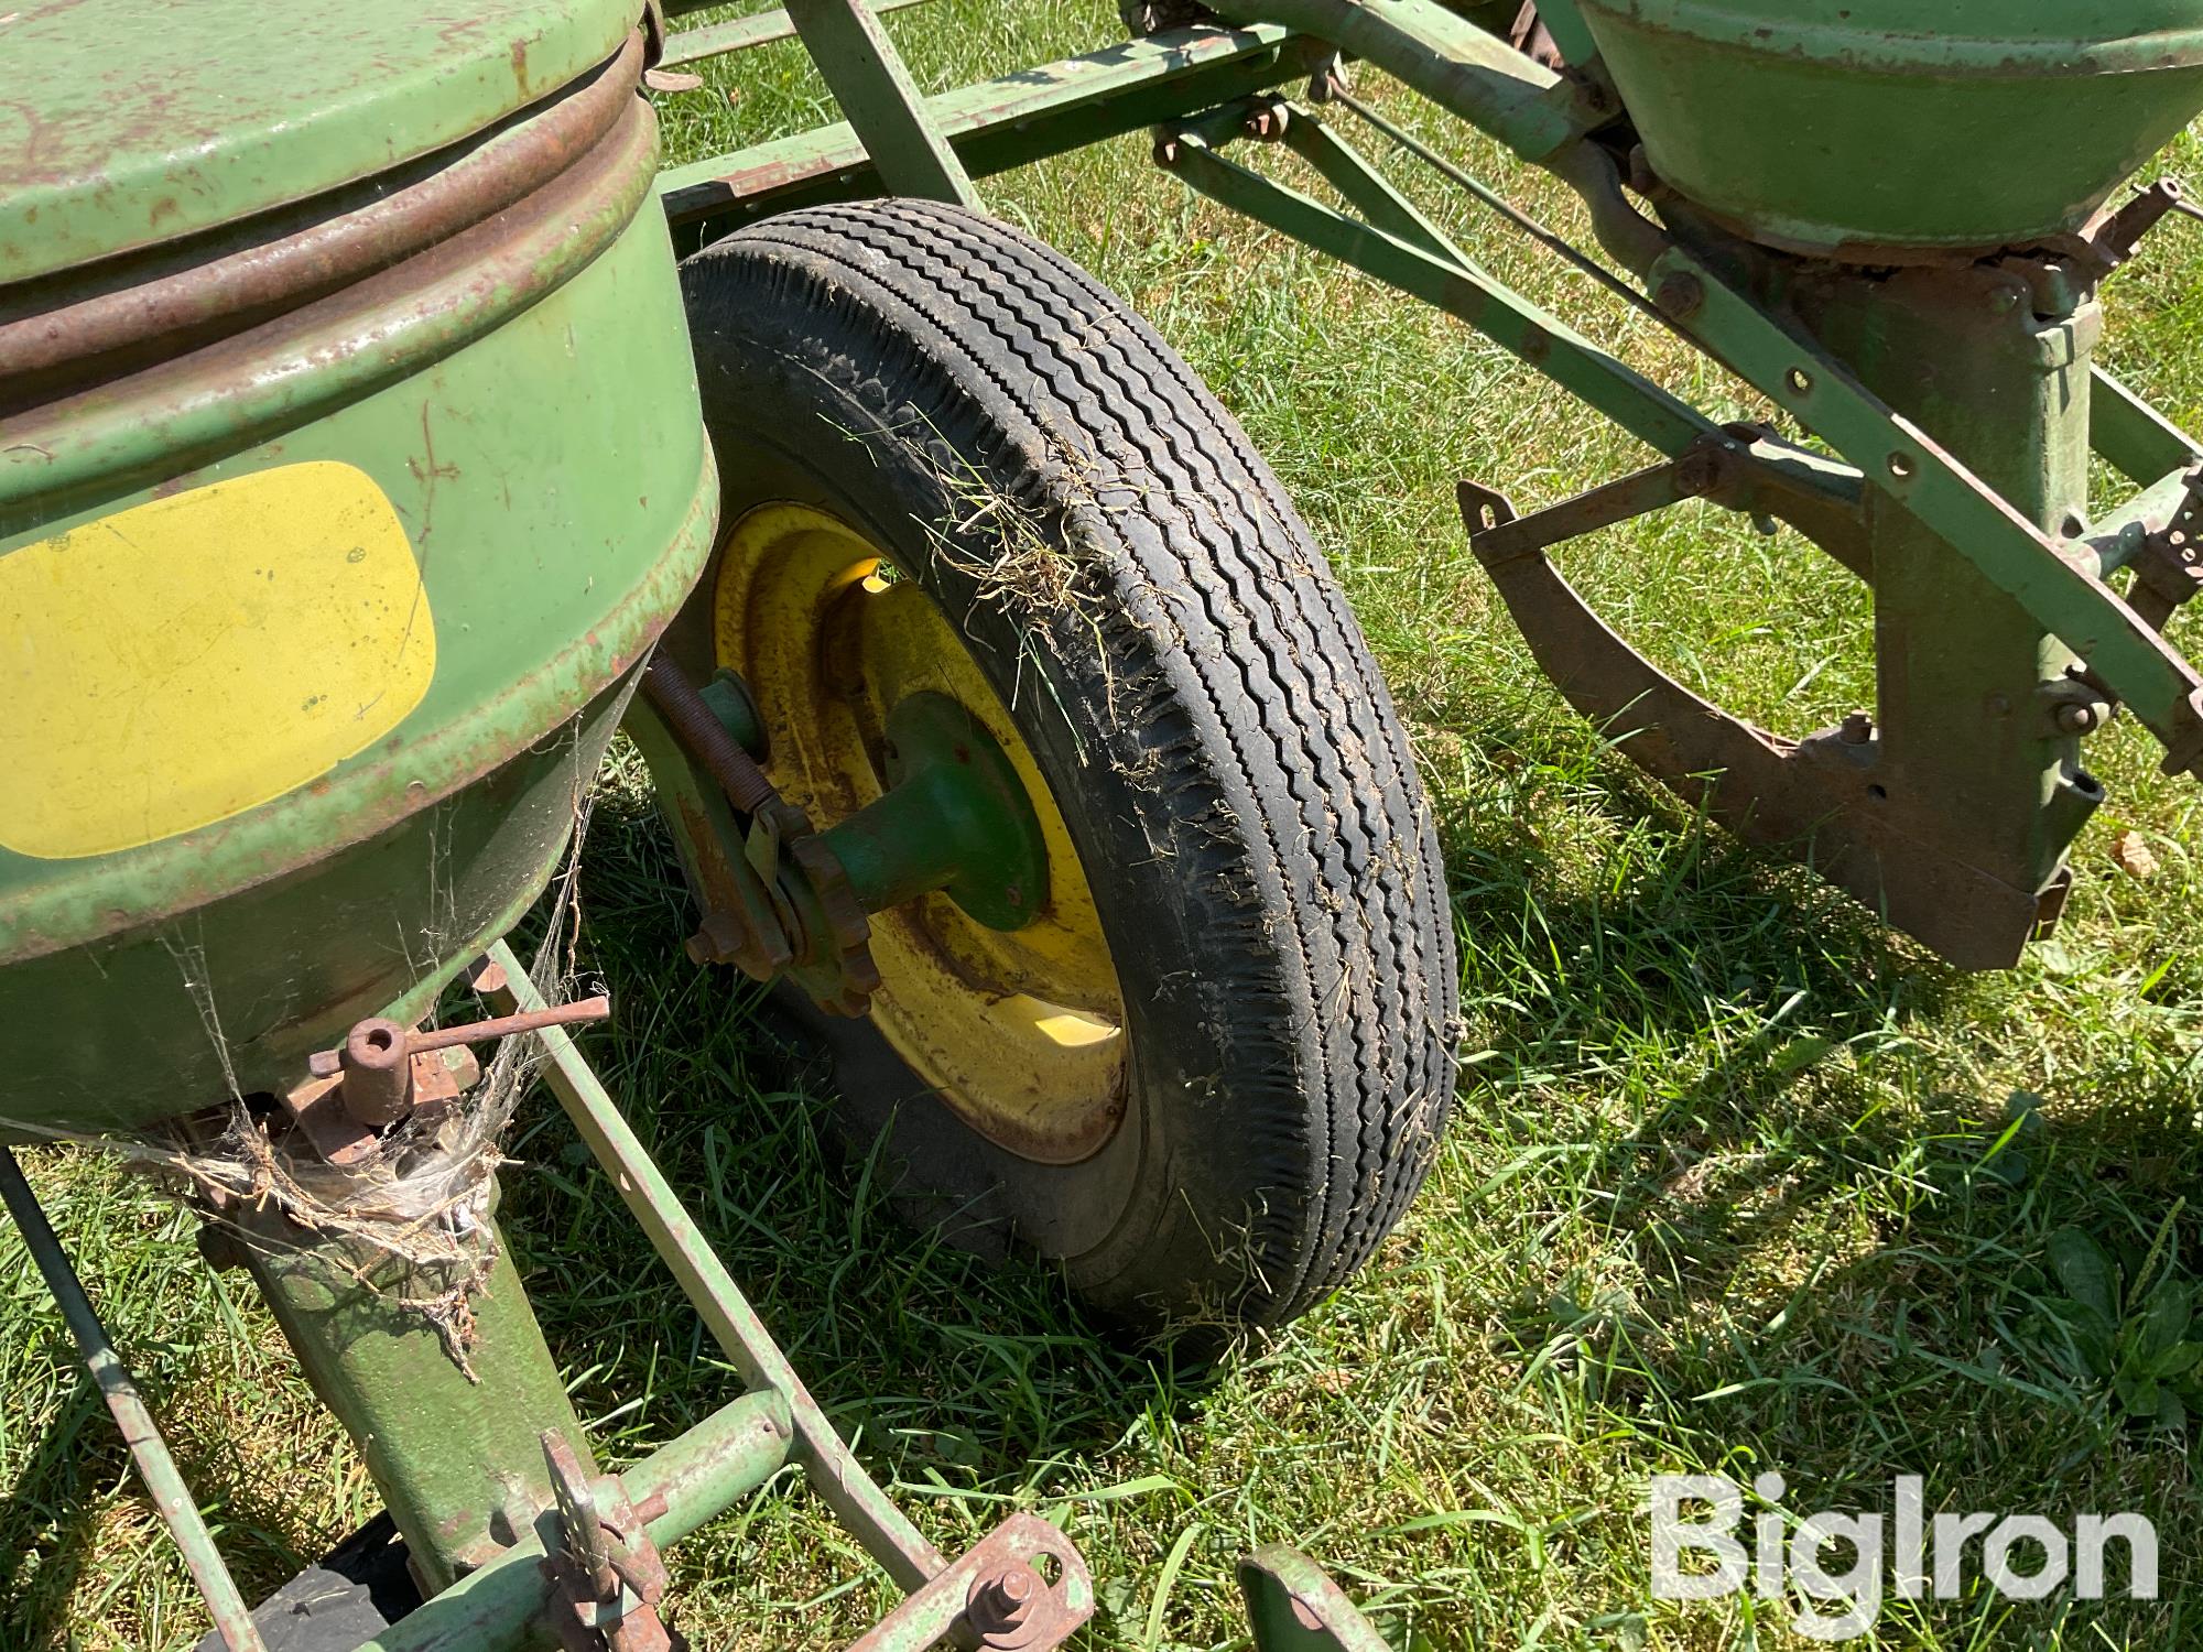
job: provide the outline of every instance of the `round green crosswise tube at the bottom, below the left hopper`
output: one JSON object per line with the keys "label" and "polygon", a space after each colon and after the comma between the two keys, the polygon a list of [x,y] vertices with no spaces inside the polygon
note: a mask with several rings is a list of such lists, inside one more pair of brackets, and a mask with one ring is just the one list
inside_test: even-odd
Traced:
{"label": "round green crosswise tube at the bottom, below the left hopper", "polygon": [[[769,1390],[742,1394],[637,1463],[621,1485],[637,1504],[665,1493],[665,1513],[650,1522],[650,1542],[663,1548],[764,1485],[786,1463],[789,1441],[786,1401]],[[542,1540],[524,1537],[355,1652],[509,1652],[535,1645],[551,1599],[542,1562]]]}

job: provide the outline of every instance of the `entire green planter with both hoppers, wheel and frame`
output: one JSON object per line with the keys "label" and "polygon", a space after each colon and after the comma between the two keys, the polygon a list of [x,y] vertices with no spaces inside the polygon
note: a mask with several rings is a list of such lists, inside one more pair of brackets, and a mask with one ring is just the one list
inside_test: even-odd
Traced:
{"label": "entire green planter with both hoppers, wheel and frame", "polygon": [[[1527,645],[1676,793],[1963,967],[2055,923],[2119,709],[2203,767],[2166,641],[2203,449],[2093,361],[2190,211],[2126,185],[2203,108],[2203,0],[1157,0],[932,97],[881,20],[910,2],[269,31],[75,0],[0,35],[0,1139],[167,1174],[390,1509],[249,1612],[0,1156],[231,1652],[656,1652],[663,1551],[786,1463],[908,1593],[868,1648],[1093,1610],[1053,1526],[947,1557],[881,1493],[584,1062],[610,1007],[509,945],[615,727],[696,910],[668,945],[782,982],[905,1194],[1102,1313],[1280,1324],[1414,1194],[1456,1002],[1406,733],[1229,414],[976,178],[1146,130],[1637,436],[1643,469],[1540,511],[1461,485]],[[650,97],[784,37],[846,123],[656,172]],[[1597,247],[1368,70],[1551,170]],[[1364,130],[1767,419],[1498,282]],[[2093,460],[2133,491],[2093,502]],[[1873,711],[1732,718],[1547,555],[1685,500],[1870,584]],[[496,1227],[538,1070],[742,1377],[617,1474]],[[1242,1586],[1271,1652],[1375,1645],[1289,1551]]]}

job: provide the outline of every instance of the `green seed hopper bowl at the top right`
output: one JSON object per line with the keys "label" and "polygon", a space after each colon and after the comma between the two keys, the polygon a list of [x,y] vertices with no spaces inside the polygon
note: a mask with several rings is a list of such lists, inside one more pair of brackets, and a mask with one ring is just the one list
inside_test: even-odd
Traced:
{"label": "green seed hopper bowl at the top right", "polygon": [[2203,13],[2181,0],[1582,18],[1663,183],[1743,240],[1851,264],[2075,236],[2203,108]]}

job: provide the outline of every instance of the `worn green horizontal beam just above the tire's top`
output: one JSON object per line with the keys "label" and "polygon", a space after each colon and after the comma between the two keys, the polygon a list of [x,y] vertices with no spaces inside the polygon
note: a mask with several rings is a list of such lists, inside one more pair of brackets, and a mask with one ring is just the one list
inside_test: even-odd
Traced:
{"label": "worn green horizontal beam just above the tire's top", "polygon": [[[985,178],[1282,86],[1324,53],[1276,26],[1172,29],[930,97],[925,115],[965,172]],[[676,225],[877,194],[879,170],[848,121],[659,174],[659,200]]]}

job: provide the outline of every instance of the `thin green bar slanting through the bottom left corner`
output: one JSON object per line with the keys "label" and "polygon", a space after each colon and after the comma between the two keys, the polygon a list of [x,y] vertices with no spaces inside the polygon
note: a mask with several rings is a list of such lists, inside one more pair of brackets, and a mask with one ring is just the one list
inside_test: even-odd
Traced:
{"label": "thin green bar slanting through the bottom left corner", "polygon": [[93,1381],[99,1385],[99,1396],[106,1399],[108,1412],[115,1416],[115,1427],[121,1430],[123,1443],[130,1447],[130,1458],[137,1463],[137,1471],[152,1493],[152,1507],[161,1515],[161,1524],[167,1526],[170,1537],[176,1540],[176,1548],[183,1551],[183,1564],[189,1566],[192,1582],[198,1584],[198,1593],[214,1615],[214,1628],[223,1632],[229,1652],[267,1652],[260,1630],[253,1628],[253,1612],[245,1604],[245,1597],[238,1595],[238,1586],[223,1564],[223,1551],[214,1546],[214,1533],[198,1518],[198,1502],[192,1500],[192,1489],[183,1482],[176,1458],[167,1454],[167,1441],[161,1438],[152,1412],[145,1410],[143,1396],[130,1379],[130,1368],[115,1352],[115,1344],[108,1341],[108,1330],[99,1324],[93,1300],[84,1295],[84,1284],[68,1264],[68,1253],[62,1249],[53,1222],[37,1207],[37,1194],[31,1192],[22,1165],[15,1163],[15,1154],[7,1148],[0,1148],[0,1200],[7,1203],[9,1216],[22,1229],[22,1242],[29,1247],[31,1260],[37,1262],[37,1271],[46,1278],[46,1289],[53,1291],[53,1300],[62,1306],[68,1333],[77,1339],[77,1352],[84,1357],[86,1368],[90,1368]]}

